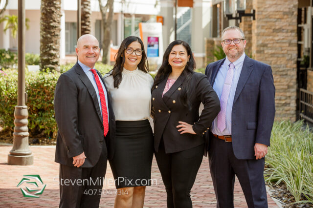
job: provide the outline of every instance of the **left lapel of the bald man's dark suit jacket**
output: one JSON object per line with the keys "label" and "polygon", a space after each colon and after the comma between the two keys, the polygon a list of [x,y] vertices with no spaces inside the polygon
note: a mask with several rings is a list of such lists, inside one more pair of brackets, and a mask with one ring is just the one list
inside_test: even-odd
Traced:
{"label": "left lapel of the bald man's dark suit jacket", "polygon": [[96,91],[94,90],[92,83],[90,82],[89,78],[87,77],[87,75],[85,74],[85,72],[83,71],[83,69],[80,67],[80,65],[78,63],[75,64],[75,71],[77,74],[79,74],[79,79],[87,87],[87,90],[88,90],[88,92],[92,98],[94,107],[98,113],[98,117],[99,117],[100,121],[102,122],[102,116],[101,116],[100,106],[98,103],[97,94],[96,94]]}

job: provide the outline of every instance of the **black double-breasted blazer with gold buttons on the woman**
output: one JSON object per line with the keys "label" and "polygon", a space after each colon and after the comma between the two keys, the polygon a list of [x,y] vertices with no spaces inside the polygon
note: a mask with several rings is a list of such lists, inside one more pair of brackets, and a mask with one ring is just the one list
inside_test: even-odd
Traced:
{"label": "black double-breasted blazer with gold buttons on the woman", "polygon": [[[185,76],[181,74],[162,98],[167,79],[168,77],[152,90],[152,105],[155,108],[155,151],[158,151],[162,137],[166,153],[179,152],[203,144],[203,134],[209,129],[212,121],[220,111],[218,96],[205,75],[193,73],[190,80],[190,91],[188,92],[192,109],[188,110],[179,98]],[[199,118],[201,102],[204,109]],[[192,124],[197,134],[180,134],[176,127],[179,125],[179,121]]]}

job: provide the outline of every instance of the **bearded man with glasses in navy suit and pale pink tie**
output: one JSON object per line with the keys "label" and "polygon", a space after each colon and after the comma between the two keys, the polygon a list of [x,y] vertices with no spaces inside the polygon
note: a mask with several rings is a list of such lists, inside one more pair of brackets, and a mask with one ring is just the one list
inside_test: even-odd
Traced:
{"label": "bearded man with glasses in navy suit and pale pink tie", "polygon": [[264,158],[275,115],[271,67],[245,55],[245,35],[239,27],[224,29],[222,47],[226,58],[205,69],[221,103],[208,134],[217,207],[234,207],[236,175],[248,207],[267,208]]}

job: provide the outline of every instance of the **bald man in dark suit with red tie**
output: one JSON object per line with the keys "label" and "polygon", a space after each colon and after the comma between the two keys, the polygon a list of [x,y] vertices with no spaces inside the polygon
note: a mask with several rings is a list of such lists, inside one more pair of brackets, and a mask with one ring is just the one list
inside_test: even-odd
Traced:
{"label": "bald man in dark suit with red tie", "polygon": [[99,207],[107,159],[113,155],[115,118],[105,83],[94,69],[99,53],[94,36],[81,36],[78,62],[61,74],[55,88],[55,162],[63,208]]}

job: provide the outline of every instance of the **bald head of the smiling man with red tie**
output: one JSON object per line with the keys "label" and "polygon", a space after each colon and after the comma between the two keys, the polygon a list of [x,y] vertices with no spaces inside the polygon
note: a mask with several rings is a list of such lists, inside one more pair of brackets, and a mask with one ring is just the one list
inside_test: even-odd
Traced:
{"label": "bald head of the smiling man with red tie", "polygon": [[93,68],[100,54],[98,40],[90,34],[82,35],[77,40],[76,54],[80,62]]}

